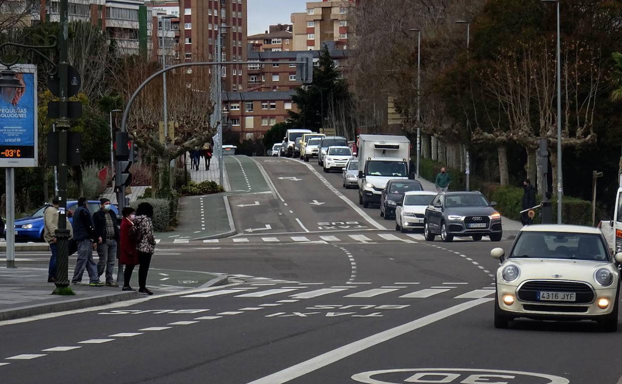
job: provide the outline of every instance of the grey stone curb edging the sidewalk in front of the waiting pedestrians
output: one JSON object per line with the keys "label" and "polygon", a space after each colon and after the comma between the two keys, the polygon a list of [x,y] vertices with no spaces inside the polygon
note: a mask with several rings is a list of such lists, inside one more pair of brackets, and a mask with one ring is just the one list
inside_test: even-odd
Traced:
{"label": "grey stone curb edging the sidewalk in front of the waiting pedestrians", "polygon": [[71,299],[62,302],[47,304],[37,304],[34,306],[24,306],[0,311],[0,321],[19,319],[20,317],[30,317],[50,312],[72,311],[86,307],[101,306],[111,302],[126,301],[141,297],[137,291],[119,292],[117,294],[105,294],[101,296],[88,297],[86,299]]}

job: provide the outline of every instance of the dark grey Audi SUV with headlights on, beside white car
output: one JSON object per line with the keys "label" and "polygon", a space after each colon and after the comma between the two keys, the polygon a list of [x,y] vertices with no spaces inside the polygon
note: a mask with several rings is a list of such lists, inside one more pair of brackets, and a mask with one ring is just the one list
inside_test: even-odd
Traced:
{"label": "dark grey Audi SUV with headlights on, beside white car", "polygon": [[494,205],[480,192],[440,192],[425,208],[425,240],[440,235],[445,242],[452,241],[453,236],[471,236],[475,241],[489,236],[492,241],[501,241],[501,214]]}

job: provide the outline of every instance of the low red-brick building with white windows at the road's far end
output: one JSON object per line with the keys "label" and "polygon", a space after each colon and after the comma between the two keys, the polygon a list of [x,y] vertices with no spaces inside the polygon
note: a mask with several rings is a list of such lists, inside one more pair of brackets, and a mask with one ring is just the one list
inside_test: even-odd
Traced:
{"label": "low red-brick building with white windows at the road's far end", "polygon": [[284,122],[288,111],[295,110],[293,91],[223,92],[223,108],[231,131],[240,141],[259,139],[276,123]]}

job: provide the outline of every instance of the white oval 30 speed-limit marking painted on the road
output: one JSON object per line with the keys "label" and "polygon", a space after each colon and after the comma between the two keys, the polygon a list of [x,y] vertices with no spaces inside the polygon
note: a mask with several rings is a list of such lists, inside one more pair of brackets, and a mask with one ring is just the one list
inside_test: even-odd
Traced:
{"label": "white oval 30 speed-limit marking painted on the road", "polygon": [[566,378],[519,371],[473,368],[410,368],[369,371],[353,375],[365,384],[569,384]]}

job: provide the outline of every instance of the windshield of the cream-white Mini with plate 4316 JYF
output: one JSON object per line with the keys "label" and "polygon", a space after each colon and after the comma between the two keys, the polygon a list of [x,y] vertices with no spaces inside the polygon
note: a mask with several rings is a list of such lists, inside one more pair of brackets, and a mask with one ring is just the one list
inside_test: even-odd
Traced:
{"label": "windshield of the cream-white Mini with plate 4316 JYF", "polygon": [[600,235],[571,232],[523,232],[509,257],[610,261]]}

